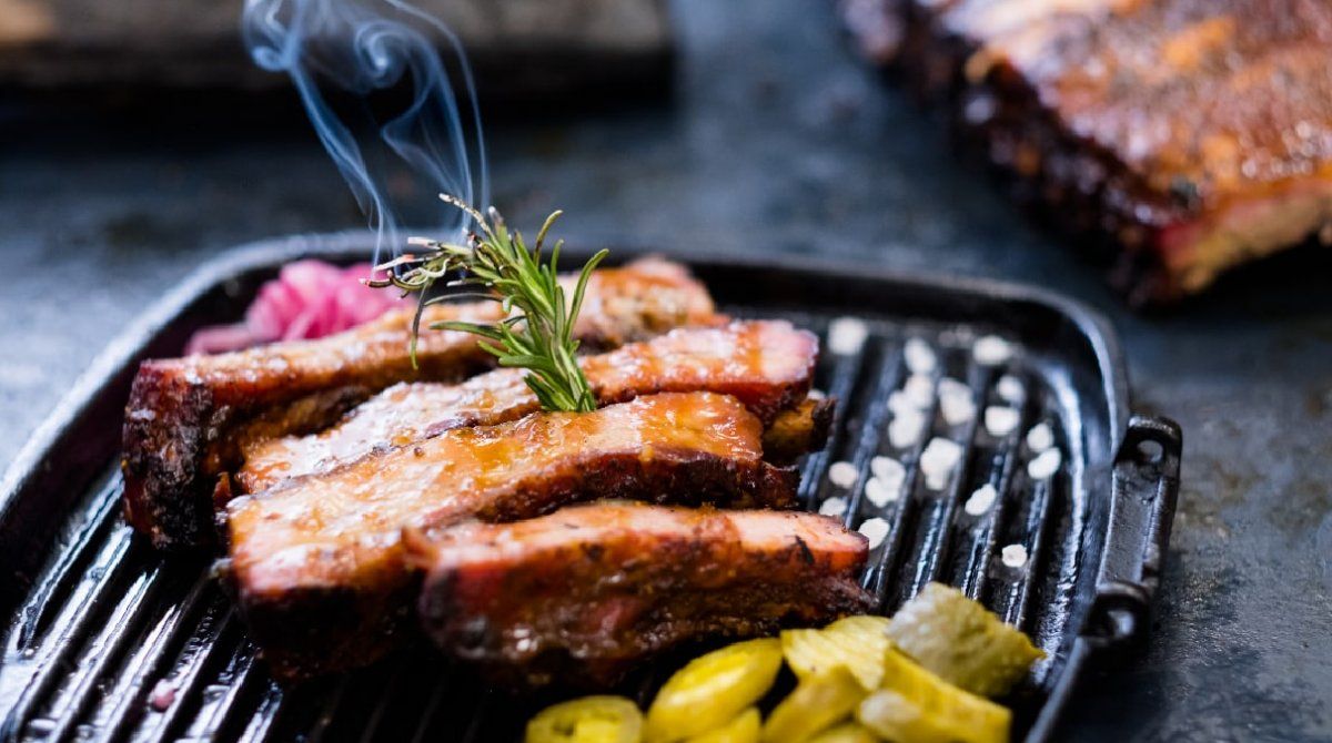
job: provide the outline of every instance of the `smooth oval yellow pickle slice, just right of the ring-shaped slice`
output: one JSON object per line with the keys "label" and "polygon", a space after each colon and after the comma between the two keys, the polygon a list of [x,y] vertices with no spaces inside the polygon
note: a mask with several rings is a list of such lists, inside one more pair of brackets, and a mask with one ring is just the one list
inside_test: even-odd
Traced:
{"label": "smooth oval yellow pickle slice, just right of the ring-shaped slice", "polygon": [[647,708],[645,739],[685,740],[727,724],[767,694],[781,670],[777,638],[738,642],[690,660]]}

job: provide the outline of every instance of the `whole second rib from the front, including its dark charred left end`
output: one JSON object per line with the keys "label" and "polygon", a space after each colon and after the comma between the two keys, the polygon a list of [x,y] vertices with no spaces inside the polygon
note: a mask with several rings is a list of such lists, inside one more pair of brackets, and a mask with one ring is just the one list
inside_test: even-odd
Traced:
{"label": "whole second rib from the front, including its dark charred left end", "polygon": [[230,581],[276,675],[364,664],[394,644],[414,597],[402,529],[593,498],[789,507],[798,473],[763,461],[762,434],[711,393],[446,431],[232,501]]}

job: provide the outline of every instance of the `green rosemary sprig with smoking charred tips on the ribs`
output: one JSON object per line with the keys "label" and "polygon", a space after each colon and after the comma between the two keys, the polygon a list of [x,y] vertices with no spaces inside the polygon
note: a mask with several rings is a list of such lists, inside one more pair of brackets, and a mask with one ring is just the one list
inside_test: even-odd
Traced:
{"label": "green rosemary sprig with smoking charred tips on the ribs", "polygon": [[[597,399],[587,386],[587,378],[578,366],[578,341],[574,324],[582,308],[583,293],[591,272],[606,257],[601,250],[578,273],[570,301],[565,301],[565,288],[559,282],[559,249],[557,241],[550,257],[542,254],[542,245],[550,226],[561,212],[553,212],[537,233],[529,249],[522,233],[509,232],[494,208],[482,214],[470,204],[448,194],[445,202],[462,209],[476,222],[468,245],[414,237],[412,245],[422,248],[420,254],[406,254],[376,266],[376,274],[385,278],[368,280],[374,288],[397,288],[402,294],[417,294],[417,312],[412,321],[412,365],[416,366],[417,338],[421,317],[429,305],[450,302],[462,297],[494,300],[501,304],[505,318],[494,324],[452,320],[430,325],[434,330],[462,330],[481,337],[480,345],[498,358],[501,366],[526,369],[523,379],[545,410],[591,411]],[[449,278],[453,276],[454,278]],[[445,288],[474,288],[429,296],[436,282]]]}

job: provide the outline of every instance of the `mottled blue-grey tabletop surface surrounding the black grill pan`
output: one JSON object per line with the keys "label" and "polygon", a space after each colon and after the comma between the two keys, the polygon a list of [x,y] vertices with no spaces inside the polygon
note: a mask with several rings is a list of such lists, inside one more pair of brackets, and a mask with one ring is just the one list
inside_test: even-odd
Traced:
{"label": "mottled blue-grey tabletop surface surrounding the black grill pan", "polygon": [[[822,0],[681,1],[674,93],[486,111],[494,202],[563,236],[1052,286],[1104,310],[1135,407],[1184,427],[1146,655],[1079,740],[1332,740],[1332,293],[1317,249],[1150,318],[860,65]],[[650,97],[650,96],[649,96]],[[634,99],[630,103],[627,99]],[[623,105],[619,105],[623,104]],[[364,225],[286,96],[0,101],[0,465],[101,348],[240,242]],[[1321,253],[1325,253],[1323,250]]]}

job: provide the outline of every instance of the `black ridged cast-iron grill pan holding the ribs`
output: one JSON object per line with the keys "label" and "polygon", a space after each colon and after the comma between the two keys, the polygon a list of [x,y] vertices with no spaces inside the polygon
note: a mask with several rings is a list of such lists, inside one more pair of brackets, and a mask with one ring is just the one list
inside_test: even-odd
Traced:
{"label": "black ridged cast-iron grill pan holding the ribs", "polygon": [[[206,558],[163,558],[120,515],[117,453],[137,362],[174,356],[205,324],[234,321],[258,285],[297,257],[353,261],[365,233],[293,237],[228,253],[145,313],[76,382],[0,481],[0,740],[502,740],[554,696],[513,699],[428,652],[401,652],[364,671],[280,688],[246,640]],[[619,249],[617,257],[631,256]],[[1140,643],[1179,490],[1179,427],[1130,415],[1114,334],[1096,314],[1035,289],[931,280],[836,264],[717,258],[677,252],[725,310],[786,317],[827,340],[854,316],[870,334],[858,353],[825,342],[817,386],[839,399],[827,447],[803,465],[802,499],[844,498],[846,523],[883,518],[864,585],[891,611],[928,581],[962,587],[1027,631],[1048,658],[1008,699],[1018,739],[1046,740],[1088,664]],[[976,364],[971,342],[1016,341],[1003,369]],[[936,352],[931,377],[964,382],[975,414],[950,426],[934,394],[928,429],[911,446],[886,434],[888,395],[907,370],[903,344]],[[1000,374],[1023,382],[1022,423],[1002,437],[978,421]],[[1022,433],[1046,422],[1064,453],[1059,474],[1034,482]],[[927,487],[927,441],[962,446],[942,491]],[[864,494],[874,457],[904,465],[899,498]],[[829,467],[859,474],[844,489]],[[980,515],[963,503],[994,485]],[[882,501],[882,498],[878,498]],[[1028,559],[1006,566],[999,551]],[[629,683],[647,698],[654,666]]]}

